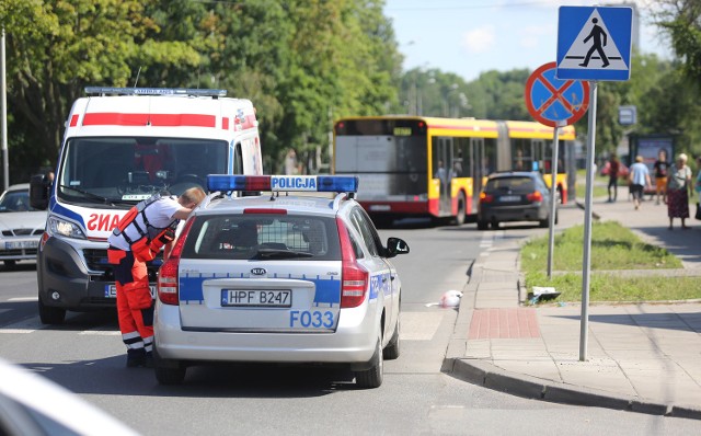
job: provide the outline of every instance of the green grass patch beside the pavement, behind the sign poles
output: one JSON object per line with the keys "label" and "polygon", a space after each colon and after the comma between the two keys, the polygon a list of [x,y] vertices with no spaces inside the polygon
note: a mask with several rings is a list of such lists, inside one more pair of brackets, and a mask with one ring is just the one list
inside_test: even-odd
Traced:
{"label": "green grass patch beside the pavement, behind the sign poles", "polygon": [[[527,242],[521,250],[521,271],[526,287],[554,287],[560,301],[582,299],[584,226],[575,226],[555,236],[553,274],[548,279],[548,237]],[[665,249],[641,241],[619,222],[591,226],[589,275],[590,301],[655,301],[701,298],[698,277],[640,276],[607,274],[616,269],[680,268],[681,262]]]}

